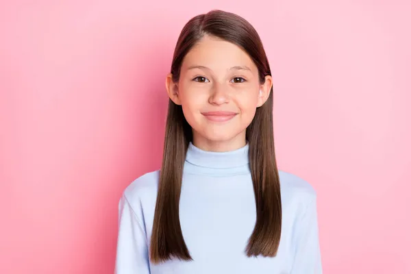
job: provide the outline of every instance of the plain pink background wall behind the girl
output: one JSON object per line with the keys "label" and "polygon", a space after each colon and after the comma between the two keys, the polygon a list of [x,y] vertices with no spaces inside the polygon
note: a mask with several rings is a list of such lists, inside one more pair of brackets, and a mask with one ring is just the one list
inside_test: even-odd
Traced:
{"label": "plain pink background wall behind the girl", "polygon": [[117,203],[160,166],[177,36],[256,27],[279,168],[319,195],[325,273],[411,273],[408,1],[2,1],[0,273],[112,273]]}

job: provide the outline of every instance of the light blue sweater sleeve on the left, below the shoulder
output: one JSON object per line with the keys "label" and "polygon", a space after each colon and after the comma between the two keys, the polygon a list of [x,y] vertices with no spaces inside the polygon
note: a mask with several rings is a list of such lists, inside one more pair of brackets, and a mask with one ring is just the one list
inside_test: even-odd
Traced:
{"label": "light blue sweater sleeve on the left, below the shoulder", "polygon": [[115,274],[149,274],[149,251],[145,228],[125,195],[119,201]]}

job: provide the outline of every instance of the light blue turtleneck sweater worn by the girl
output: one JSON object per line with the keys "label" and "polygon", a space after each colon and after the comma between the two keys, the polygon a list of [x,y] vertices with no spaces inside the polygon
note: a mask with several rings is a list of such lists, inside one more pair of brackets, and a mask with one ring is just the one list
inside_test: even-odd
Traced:
{"label": "light blue turtleneck sweater worn by the girl", "polygon": [[116,274],[320,274],[316,192],[303,179],[279,171],[282,236],[275,258],[248,258],[256,223],[249,145],[203,151],[190,143],[184,164],[179,218],[192,261],[149,262],[159,171],[127,186],[119,203]]}

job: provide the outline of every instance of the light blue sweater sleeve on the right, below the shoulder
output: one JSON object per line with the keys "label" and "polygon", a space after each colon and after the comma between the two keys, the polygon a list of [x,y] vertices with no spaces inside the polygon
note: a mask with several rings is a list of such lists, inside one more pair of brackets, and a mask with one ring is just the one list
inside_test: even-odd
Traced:
{"label": "light blue sweater sleeve on the right, below the shoulder", "polygon": [[322,274],[316,197],[297,221],[295,259],[291,274]]}

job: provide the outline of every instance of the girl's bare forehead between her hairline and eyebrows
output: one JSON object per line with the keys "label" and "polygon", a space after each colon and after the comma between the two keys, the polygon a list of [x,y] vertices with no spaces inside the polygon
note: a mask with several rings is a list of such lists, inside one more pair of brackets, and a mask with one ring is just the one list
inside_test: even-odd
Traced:
{"label": "girl's bare forehead between her hairline and eyebrows", "polygon": [[229,69],[232,66],[248,66],[257,71],[256,64],[246,51],[219,38],[204,36],[188,51],[182,64],[182,70],[188,66],[207,66],[210,69]]}

